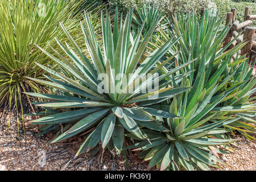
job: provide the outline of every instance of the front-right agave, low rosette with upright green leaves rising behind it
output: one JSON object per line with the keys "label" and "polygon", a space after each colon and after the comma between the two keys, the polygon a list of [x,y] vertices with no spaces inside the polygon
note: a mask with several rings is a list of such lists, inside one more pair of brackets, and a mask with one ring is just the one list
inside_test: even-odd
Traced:
{"label": "front-right agave, low rosette with upright green leaves rising behind it", "polygon": [[[230,125],[230,123],[236,122],[240,118],[215,119],[218,113],[212,113],[212,111],[241,84],[218,93],[222,85],[231,80],[230,77],[220,80],[224,68],[231,61],[231,57],[223,60],[217,71],[209,77],[207,77],[207,71],[209,71],[210,64],[213,64],[213,61],[205,64],[207,63],[206,57],[205,53],[201,55],[199,70],[195,77],[188,75],[182,80],[172,81],[175,88],[193,85],[192,89],[175,96],[170,102],[170,106],[150,106],[154,109],[169,111],[181,117],[163,119],[162,126],[170,131],[155,133],[154,137],[150,138],[151,144],[139,142],[127,147],[136,148],[135,151],[142,150],[140,156],[145,160],[150,160],[149,168],[157,165],[162,170],[170,168],[179,170],[181,165],[187,170],[195,168],[205,170],[209,169],[206,164],[214,167],[218,167],[217,163],[225,164],[216,157],[218,152],[222,151],[213,146],[236,141],[236,139],[225,139],[222,136],[223,133],[232,130],[224,129],[223,126]],[[214,59],[211,58],[211,60]],[[192,70],[189,70],[189,73],[192,72]]]}

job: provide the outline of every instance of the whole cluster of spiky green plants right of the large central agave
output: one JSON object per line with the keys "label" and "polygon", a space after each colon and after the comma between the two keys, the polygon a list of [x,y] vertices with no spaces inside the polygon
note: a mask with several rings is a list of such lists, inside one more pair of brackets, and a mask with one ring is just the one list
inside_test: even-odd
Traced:
{"label": "whole cluster of spiky green plants right of the large central agave", "polygon": [[[148,167],[156,165],[162,170],[218,167],[217,163],[225,164],[218,159],[218,153],[224,151],[213,146],[235,141],[225,133],[234,129],[242,134],[255,131],[253,125],[241,121],[255,123],[255,104],[249,102],[253,98],[248,99],[255,92],[252,88],[256,79],[250,78],[252,69],[244,56],[231,61],[233,54],[245,43],[224,52],[229,45],[222,47],[222,41],[229,28],[221,28],[221,22],[218,16],[210,16],[208,11],[201,20],[195,14],[174,18],[173,31],[177,36],[181,35],[181,39],[169,53],[180,50],[176,65],[191,59],[196,61],[185,70],[176,72],[170,84],[175,88],[193,88],[164,105],[153,107],[181,117],[165,120],[163,126],[170,131],[154,134],[150,131],[154,136],[150,138],[151,144],[143,141],[127,147],[141,150],[139,157],[150,160]],[[168,38],[166,32],[162,31],[162,34]],[[157,43],[161,44],[156,41],[155,47],[158,47]],[[167,71],[168,68],[163,69],[163,73]],[[175,80],[180,75],[186,76],[183,80]],[[241,127],[246,127],[246,130]],[[246,137],[253,138],[247,134]]]}

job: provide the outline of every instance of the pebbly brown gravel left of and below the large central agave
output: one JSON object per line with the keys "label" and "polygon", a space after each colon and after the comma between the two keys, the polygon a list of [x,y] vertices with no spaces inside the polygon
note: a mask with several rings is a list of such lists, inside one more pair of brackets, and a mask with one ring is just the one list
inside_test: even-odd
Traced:
{"label": "pebbly brown gravel left of and below the large central agave", "polygon": [[[80,146],[76,141],[51,144],[48,141],[54,137],[52,134],[38,137],[38,128],[26,121],[26,135],[20,126],[18,138],[16,118],[11,115],[9,130],[8,120],[9,115],[5,114],[0,122],[0,171],[147,170],[148,163],[129,157],[125,166],[121,156],[114,156],[110,151],[105,151],[103,156],[100,153],[93,157],[88,154],[76,156]],[[31,121],[31,118],[26,120]]]}

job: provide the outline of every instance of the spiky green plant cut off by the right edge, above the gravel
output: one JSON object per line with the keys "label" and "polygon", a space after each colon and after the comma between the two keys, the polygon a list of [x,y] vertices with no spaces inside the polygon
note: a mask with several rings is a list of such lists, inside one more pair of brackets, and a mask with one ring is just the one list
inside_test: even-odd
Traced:
{"label": "spiky green plant cut off by the right edge, above the gravel", "polygon": [[[237,60],[237,58],[236,58]],[[256,104],[255,97],[253,94],[256,92],[255,76],[251,77],[253,72],[253,67],[250,67],[250,64],[246,61],[243,61],[237,68],[236,65],[231,66],[231,71],[237,69],[237,72],[233,74],[232,80],[228,82],[227,88],[232,88],[236,85],[239,86],[236,90],[224,98],[221,101],[221,104],[214,107],[213,111],[220,112],[219,117],[222,119],[227,117],[241,117],[238,121],[230,123],[227,125],[227,128],[239,131],[244,137],[249,140],[255,140],[252,134],[255,134],[255,113],[256,113]],[[225,92],[225,89],[222,88],[220,92]],[[232,133],[234,135],[234,133]]]}

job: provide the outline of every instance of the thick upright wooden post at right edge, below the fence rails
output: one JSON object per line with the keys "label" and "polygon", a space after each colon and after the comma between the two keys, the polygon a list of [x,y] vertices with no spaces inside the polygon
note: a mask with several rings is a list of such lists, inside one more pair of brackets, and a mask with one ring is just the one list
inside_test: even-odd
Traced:
{"label": "thick upright wooden post at right edge, below the fence rails", "polygon": [[245,27],[245,34],[243,34],[243,40],[247,42],[247,44],[242,48],[241,55],[245,55],[251,52],[251,48],[253,48],[254,34],[254,27]]}

